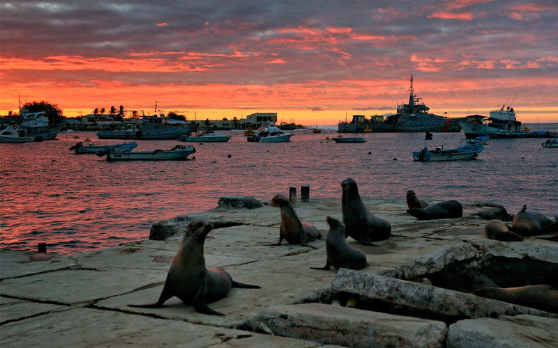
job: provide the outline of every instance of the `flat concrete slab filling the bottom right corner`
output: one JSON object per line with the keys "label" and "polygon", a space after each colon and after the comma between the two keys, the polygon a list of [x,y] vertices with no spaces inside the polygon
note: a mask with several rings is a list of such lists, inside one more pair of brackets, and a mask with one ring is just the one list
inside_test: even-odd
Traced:
{"label": "flat concrete slab filling the bottom right corner", "polygon": [[558,319],[531,315],[460,320],[449,326],[448,348],[558,347]]}

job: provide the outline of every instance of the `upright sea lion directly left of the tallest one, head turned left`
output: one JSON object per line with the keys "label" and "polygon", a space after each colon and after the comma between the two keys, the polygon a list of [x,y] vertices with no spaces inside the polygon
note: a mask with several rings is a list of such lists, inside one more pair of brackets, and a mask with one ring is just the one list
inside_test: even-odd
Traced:
{"label": "upright sea lion directly left of the tallest one, head turned left", "polygon": [[315,239],[322,240],[322,234],[317,228],[310,225],[310,223],[301,222],[299,216],[296,215],[291,201],[282,194],[278,194],[271,198],[271,205],[273,207],[280,207],[281,209],[281,226],[279,228],[279,242],[276,244],[264,244],[266,246],[281,245],[283,239],[290,244],[301,244],[301,246],[311,246],[310,242]]}

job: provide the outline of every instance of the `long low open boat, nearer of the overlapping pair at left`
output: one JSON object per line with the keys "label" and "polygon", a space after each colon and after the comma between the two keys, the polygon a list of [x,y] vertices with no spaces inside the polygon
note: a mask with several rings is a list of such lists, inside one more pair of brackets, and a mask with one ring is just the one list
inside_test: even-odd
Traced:
{"label": "long low open boat, nearer of the overlapping pair at left", "polygon": [[107,161],[168,161],[188,159],[196,152],[192,145],[176,145],[170,150],[153,151],[112,151],[104,150],[96,153],[98,157],[107,156]]}

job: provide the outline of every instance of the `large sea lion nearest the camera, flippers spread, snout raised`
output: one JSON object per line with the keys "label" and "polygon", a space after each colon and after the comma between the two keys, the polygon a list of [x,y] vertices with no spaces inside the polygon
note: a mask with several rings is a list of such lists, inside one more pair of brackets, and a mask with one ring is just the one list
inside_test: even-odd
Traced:
{"label": "large sea lion nearest the camera, flippers spread, snout raised", "polygon": [[204,242],[211,231],[206,221],[192,221],[186,228],[180,248],[167,274],[156,303],[128,305],[140,308],[160,308],[165,301],[176,296],[184,303],[192,303],[199,313],[223,315],[207,306],[207,303],[223,299],[231,287],[259,289],[257,285],[237,283],[223,268],[206,269],[204,259]]}

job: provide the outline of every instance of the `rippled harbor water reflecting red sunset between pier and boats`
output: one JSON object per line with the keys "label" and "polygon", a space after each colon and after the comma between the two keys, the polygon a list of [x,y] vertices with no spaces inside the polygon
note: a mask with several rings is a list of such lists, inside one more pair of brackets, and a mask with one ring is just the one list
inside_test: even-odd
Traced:
{"label": "rippled harbor water reflecting red sunset between pier and boats", "polygon": [[[557,129],[557,124],[545,129]],[[333,131],[295,131],[289,143],[190,143],[188,161],[107,162],[68,148],[93,132],[60,133],[40,143],[0,143],[0,248],[70,255],[149,238],[153,223],[217,206],[222,196],[269,200],[310,185],[312,198],[341,198],[352,177],[361,196],[405,200],[483,201],[515,214],[558,214],[558,149],[545,139],[490,139],[474,161],[415,162],[424,133],[358,134],[365,143],[335,143]],[[352,136],[352,134],[343,134]],[[169,149],[178,141],[137,141],[136,150]],[[463,133],[435,133],[429,148],[465,143]],[[278,212],[279,214],[279,212]],[[340,216],[341,212],[339,212]],[[325,218],[325,216],[324,216]],[[480,232],[480,231],[479,231]]]}

